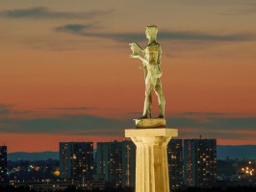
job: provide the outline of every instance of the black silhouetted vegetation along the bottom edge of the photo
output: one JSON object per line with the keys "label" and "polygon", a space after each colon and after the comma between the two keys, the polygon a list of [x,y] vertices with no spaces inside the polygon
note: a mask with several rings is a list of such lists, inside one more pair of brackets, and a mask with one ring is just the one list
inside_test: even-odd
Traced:
{"label": "black silhouetted vegetation along the bottom edge of the photo", "polygon": [[[28,187],[18,187],[15,188],[13,186],[0,187],[0,192],[38,192],[35,190],[31,190]],[[48,191],[52,192],[52,191]],[[134,188],[126,187],[122,189],[115,188],[106,188],[103,191],[94,189],[94,190],[82,190],[75,189],[73,187],[66,188],[65,190],[55,190],[54,192],[135,192]],[[190,187],[188,189],[175,191],[175,192],[256,192],[256,186],[236,186],[236,187],[213,187],[213,188],[197,188]]]}

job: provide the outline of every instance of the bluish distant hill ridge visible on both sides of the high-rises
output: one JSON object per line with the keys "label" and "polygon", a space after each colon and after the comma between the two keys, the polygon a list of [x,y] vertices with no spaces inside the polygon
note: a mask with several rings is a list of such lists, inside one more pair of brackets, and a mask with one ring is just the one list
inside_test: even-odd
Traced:
{"label": "bluish distant hill ridge visible on both sides of the high-rises", "polygon": [[[95,150],[94,150],[95,157]],[[239,146],[230,146],[230,145],[218,145],[217,146],[217,158],[226,159],[229,158],[239,158],[239,159],[250,159],[256,160],[256,145],[239,145]],[[38,152],[38,153],[26,153],[26,152],[17,152],[8,154],[8,160],[47,160],[49,158],[59,160],[59,152]]]}

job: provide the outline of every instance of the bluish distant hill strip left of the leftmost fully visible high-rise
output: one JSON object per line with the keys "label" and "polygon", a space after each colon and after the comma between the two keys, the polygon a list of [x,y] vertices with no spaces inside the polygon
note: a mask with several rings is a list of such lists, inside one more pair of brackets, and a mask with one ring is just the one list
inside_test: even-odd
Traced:
{"label": "bluish distant hill strip left of the leftmost fully visible high-rise", "polygon": [[38,152],[38,153],[27,153],[27,152],[16,152],[7,155],[8,160],[47,160],[49,158],[59,160],[59,152]]}

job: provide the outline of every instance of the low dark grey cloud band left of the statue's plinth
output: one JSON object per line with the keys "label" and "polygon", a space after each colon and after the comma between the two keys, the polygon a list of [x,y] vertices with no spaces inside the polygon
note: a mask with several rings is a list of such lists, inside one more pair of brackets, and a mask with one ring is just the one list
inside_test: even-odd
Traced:
{"label": "low dark grey cloud band left of the statue's plinth", "polygon": [[69,114],[52,118],[2,119],[0,132],[116,135],[119,130],[123,132],[125,125],[129,123],[87,114]]}

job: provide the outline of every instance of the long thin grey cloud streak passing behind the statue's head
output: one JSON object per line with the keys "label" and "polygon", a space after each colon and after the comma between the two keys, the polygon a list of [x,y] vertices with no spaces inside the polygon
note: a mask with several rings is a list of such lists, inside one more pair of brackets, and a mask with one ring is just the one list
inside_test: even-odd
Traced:
{"label": "long thin grey cloud streak passing behind the statue's head", "polygon": [[[102,38],[111,38],[116,41],[141,41],[145,39],[145,36],[141,33],[98,33],[93,32],[92,26],[81,25],[81,24],[67,24],[55,29],[56,32],[64,32],[78,36],[92,36],[92,37],[102,37]],[[246,41],[246,40],[255,40],[255,35],[250,34],[206,34],[199,32],[162,32],[158,36],[161,36],[161,39],[170,39],[170,40],[199,40],[199,41]]]}

